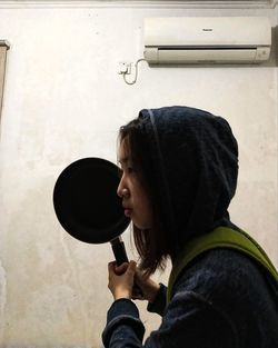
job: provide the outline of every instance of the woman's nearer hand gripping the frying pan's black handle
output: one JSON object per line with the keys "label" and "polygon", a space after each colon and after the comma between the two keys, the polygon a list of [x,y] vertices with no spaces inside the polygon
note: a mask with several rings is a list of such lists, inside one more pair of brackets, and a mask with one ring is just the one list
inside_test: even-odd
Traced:
{"label": "woman's nearer hand gripping the frying pan's black handle", "polygon": [[131,299],[135,284],[136,262],[125,262],[120,266],[117,266],[116,261],[109,262],[108,272],[108,288],[112,292],[113,299]]}

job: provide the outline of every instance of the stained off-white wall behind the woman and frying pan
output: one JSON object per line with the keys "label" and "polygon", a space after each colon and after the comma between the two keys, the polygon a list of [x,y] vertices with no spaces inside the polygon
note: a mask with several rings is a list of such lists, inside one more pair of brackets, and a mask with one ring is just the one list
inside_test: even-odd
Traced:
{"label": "stained off-white wall behind the woman and frying pan", "polygon": [[[109,245],[78,242],[52,208],[58,175],[82,157],[116,161],[120,125],[141,108],[186,105],[228,119],[240,176],[231,219],[277,265],[277,67],[149,68],[135,86],[119,61],[142,57],[151,16],[268,16],[276,10],[200,10],[0,4],[11,43],[0,142],[0,347],[98,347],[112,298]],[[277,40],[277,39],[276,39]],[[129,232],[125,233],[130,258]],[[166,277],[158,279],[166,280]],[[159,324],[141,306],[148,330]]]}

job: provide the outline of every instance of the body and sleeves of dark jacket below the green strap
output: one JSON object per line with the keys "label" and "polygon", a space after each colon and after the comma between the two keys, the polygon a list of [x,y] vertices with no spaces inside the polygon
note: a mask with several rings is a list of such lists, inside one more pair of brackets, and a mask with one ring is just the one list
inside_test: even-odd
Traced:
{"label": "body and sleeves of dark jacket below the green strap", "polygon": [[[187,268],[166,306],[161,286],[150,311],[163,315],[143,347],[276,348],[278,288],[255,261],[230,249],[203,253]],[[275,295],[276,291],[276,295]],[[120,299],[108,312],[106,347],[142,347],[143,325],[136,305]]]}

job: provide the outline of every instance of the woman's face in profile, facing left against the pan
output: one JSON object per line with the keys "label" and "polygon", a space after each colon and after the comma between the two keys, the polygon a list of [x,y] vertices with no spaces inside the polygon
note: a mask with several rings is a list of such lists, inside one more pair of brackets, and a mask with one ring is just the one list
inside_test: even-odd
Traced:
{"label": "woman's face in profile, facing left against the pan", "polygon": [[117,193],[122,198],[125,215],[129,217],[139,229],[149,229],[152,227],[153,222],[151,203],[146,189],[140,182],[139,173],[132,166],[128,145],[125,140],[120,143],[118,157],[122,176]]}

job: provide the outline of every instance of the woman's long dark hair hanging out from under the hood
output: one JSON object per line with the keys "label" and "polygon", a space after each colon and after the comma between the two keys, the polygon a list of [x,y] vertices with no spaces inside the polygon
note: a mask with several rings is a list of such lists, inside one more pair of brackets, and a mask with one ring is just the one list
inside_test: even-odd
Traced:
{"label": "woman's long dark hair hanging out from under the hood", "polygon": [[138,179],[149,196],[155,226],[148,230],[141,230],[133,225],[133,239],[140,256],[139,267],[149,276],[158,268],[163,269],[169,256],[169,240],[161,222],[161,213],[158,210],[158,196],[153,189],[153,161],[150,156],[149,139],[146,136],[143,121],[137,118],[122,126],[118,137],[119,145],[123,142],[130,153],[132,166],[138,172]]}

